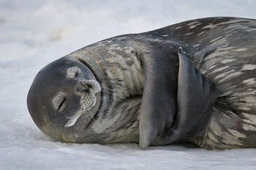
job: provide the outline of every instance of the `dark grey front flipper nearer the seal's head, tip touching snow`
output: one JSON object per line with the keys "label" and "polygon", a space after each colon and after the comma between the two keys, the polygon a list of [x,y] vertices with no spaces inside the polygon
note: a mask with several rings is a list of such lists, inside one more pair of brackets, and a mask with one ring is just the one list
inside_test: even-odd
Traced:
{"label": "dark grey front flipper nearer the seal's head, tip touching snow", "polygon": [[178,58],[175,54],[145,54],[145,84],[140,106],[140,147],[168,130],[177,112]]}

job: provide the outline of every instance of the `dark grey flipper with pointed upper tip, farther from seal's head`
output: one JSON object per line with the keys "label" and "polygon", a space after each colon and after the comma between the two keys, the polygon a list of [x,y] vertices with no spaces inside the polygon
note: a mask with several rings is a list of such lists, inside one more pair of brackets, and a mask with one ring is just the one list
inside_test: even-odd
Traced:
{"label": "dark grey flipper with pointed upper tip, farther from seal's head", "polygon": [[175,126],[168,133],[168,138],[172,141],[203,131],[217,97],[215,87],[187,59],[181,48],[178,50],[178,58],[178,114]]}

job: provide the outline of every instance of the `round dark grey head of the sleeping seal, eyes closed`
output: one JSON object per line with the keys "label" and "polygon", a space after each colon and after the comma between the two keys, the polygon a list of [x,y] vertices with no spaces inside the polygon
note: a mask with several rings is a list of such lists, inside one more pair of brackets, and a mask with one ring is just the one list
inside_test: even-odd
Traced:
{"label": "round dark grey head of the sleeping seal, eyes closed", "polygon": [[85,64],[64,57],[37,73],[28,92],[27,107],[46,135],[79,142],[89,134],[86,129],[99,109],[101,91],[100,83]]}

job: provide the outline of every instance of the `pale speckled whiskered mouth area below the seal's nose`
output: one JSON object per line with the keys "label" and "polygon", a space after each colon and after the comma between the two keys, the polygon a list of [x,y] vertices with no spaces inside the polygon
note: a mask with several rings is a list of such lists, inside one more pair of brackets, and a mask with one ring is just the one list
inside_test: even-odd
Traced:
{"label": "pale speckled whiskered mouth area below the seal's nose", "polygon": [[64,125],[64,127],[71,127],[76,124],[79,117],[85,115],[84,121],[85,124],[88,125],[92,120],[95,120],[97,116],[98,108],[100,106],[100,92],[96,94],[83,95],[81,97],[81,101],[86,98],[87,102],[81,102],[80,109],[73,114],[73,116],[67,117],[68,122]]}

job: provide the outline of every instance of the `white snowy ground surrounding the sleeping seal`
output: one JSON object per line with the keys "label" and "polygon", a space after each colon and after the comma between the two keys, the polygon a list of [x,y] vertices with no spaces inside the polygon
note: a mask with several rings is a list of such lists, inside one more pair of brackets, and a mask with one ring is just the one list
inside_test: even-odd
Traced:
{"label": "white snowy ground surrounding the sleeping seal", "polygon": [[254,0],[0,0],[0,169],[255,169],[256,149],[60,143],[26,108],[40,68],[73,50],[194,18],[255,18],[255,8]]}

